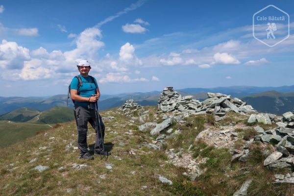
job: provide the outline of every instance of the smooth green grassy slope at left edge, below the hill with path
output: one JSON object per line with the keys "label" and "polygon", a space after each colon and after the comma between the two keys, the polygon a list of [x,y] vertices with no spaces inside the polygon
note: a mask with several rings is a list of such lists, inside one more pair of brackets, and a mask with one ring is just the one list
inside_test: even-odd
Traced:
{"label": "smooth green grassy slope at left edge, below the hill with path", "polygon": [[35,136],[37,132],[49,128],[46,124],[8,123],[8,121],[0,121],[0,147],[6,147],[23,141],[28,137]]}

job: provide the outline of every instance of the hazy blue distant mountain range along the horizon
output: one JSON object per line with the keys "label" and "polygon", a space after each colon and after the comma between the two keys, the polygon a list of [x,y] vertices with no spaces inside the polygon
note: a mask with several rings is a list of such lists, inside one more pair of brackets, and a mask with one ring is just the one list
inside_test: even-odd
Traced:
{"label": "hazy blue distant mountain range along the horizon", "polygon": [[[282,114],[294,109],[294,85],[281,87],[231,86],[216,88],[185,88],[177,89],[176,91],[182,96],[192,95],[200,101],[207,98],[207,92],[231,95],[233,97],[242,98],[260,112]],[[122,105],[127,99],[134,99],[137,103],[143,106],[156,105],[160,93],[161,92],[159,91],[152,91],[147,93],[102,95],[98,102],[98,106],[99,110],[113,108]],[[68,103],[69,107],[73,108],[73,102],[71,99],[68,100]],[[0,115],[22,107],[45,111],[55,106],[66,105],[67,95],[56,95],[49,98],[0,97]]]}

